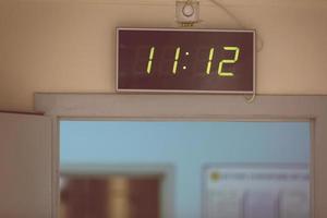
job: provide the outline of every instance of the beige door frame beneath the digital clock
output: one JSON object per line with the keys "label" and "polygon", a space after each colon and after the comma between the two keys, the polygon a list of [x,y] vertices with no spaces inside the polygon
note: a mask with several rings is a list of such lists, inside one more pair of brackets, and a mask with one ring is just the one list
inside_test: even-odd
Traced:
{"label": "beige door frame beneath the digital clock", "polygon": [[[59,211],[60,120],[310,121],[311,217],[327,217],[327,96],[132,95],[36,93],[35,110],[53,118],[52,218]],[[169,196],[173,199],[172,195]],[[164,206],[174,217],[173,203]],[[162,209],[165,210],[165,209]],[[171,216],[172,215],[172,216]]]}

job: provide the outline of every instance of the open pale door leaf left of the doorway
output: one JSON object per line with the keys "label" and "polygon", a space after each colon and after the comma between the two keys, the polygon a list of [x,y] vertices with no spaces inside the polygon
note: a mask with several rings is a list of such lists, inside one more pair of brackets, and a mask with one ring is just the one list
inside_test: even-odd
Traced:
{"label": "open pale door leaf left of the doorway", "polygon": [[51,217],[49,117],[0,112],[0,217]]}

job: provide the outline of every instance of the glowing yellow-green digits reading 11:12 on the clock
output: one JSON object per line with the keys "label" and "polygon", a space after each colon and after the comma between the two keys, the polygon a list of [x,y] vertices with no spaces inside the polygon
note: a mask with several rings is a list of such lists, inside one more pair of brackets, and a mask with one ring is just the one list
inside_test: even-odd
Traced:
{"label": "glowing yellow-green digits reading 11:12 on the clock", "polygon": [[[223,47],[223,50],[233,52],[233,58],[232,59],[222,59],[221,61],[219,61],[218,76],[232,77],[232,76],[234,76],[234,73],[223,71],[223,64],[237,63],[239,61],[239,57],[240,57],[240,48],[235,47],[235,46],[226,46],[226,47]],[[189,56],[189,55],[190,55],[189,52],[185,52],[185,56]],[[206,71],[204,72],[208,75],[210,74],[210,71],[211,71],[214,55],[215,55],[215,48],[210,48],[208,50]],[[177,47],[175,51],[174,51],[173,64],[171,66],[172,74],[177,74],[180,57],[181,57],[181,47]],[[147,66],[146,66],[147,74],[152,73],[153,62],[155,59],[156,59],[156,47],[153,46],[149,48],[148,61],[147,61]],[[183,66],[183,69],[185,69],[185,66]]]}

